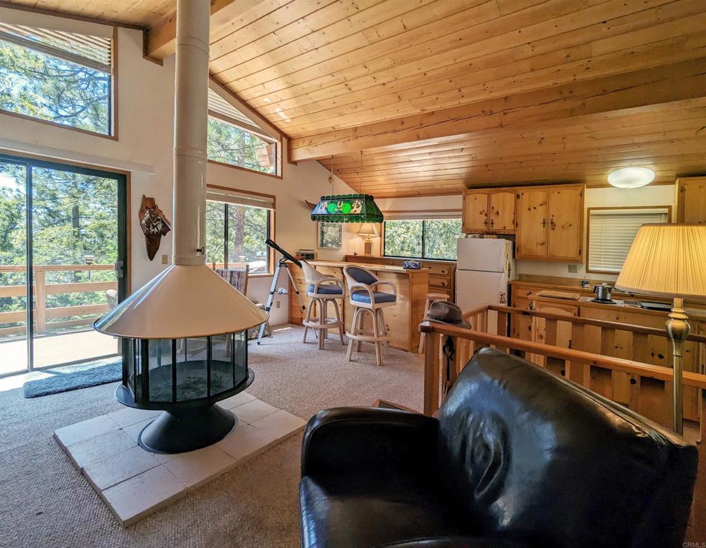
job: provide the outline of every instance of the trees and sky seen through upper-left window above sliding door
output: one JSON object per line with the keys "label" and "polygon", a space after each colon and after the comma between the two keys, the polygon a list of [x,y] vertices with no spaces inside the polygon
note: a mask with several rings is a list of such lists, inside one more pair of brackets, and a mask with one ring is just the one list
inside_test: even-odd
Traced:
{"label": "trees and sky seen through upper-left window above sliding door", "polygon": [[110,133],[110,75],[0,40],[0,109]]}

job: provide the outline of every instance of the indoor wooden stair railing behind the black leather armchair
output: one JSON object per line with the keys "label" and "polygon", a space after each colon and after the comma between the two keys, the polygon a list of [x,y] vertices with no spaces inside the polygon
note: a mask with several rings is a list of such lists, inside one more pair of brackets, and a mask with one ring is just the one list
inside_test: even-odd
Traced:
{"label": "indoor wooden stair railing behind the black leather armchair", "polygon": [[[497,314],[495,321],[499,335],[487,333],[489,312]],[[531,314],[543,318],[544,341],[522,340],[507,336],[511,314]],[[611,337],[616,330],[625,330],[633,335],[633,345],[637,355],[646,352],[641,346],[647,345],[647,338],[666,337],[664,330],[642,328],[623,323],[611,323],[589,318],[561,316],[558,314],[513,309],[508,306],[481,306],[464,314],[471,323],[471,329],[455,328],[439,323],[421,323],[419,329],[426,335],[424,412],[431,414],[441,405],[441,401],[465,364],[474,352],[481,347],[492,346],[529,359],[546,367],[557,375],[590,388],[606,398],[630,407],[641,415],[671,427],[671,380],[669,367],[646,363],[640,359],[611,357],[582,350],[585,345],[585,330],[599,328],[598,336]],[[558,322],[568,322],[571,326],[572,344],[570,348],[556,346],[555,333]],[[699,348],[703,355],[706,337],[691,335],[689,341]],[[591,344],[595,345],[596,340]],[[601,343],[602,344],[602,343]],[[702,412],[706,375],[695,371],[685,371],[683,375],[685,395],[689,391],[696,399],[697,415],[692,417],[700,424],[701,435],[706,433],[705,413]],[[686,402],[686,398],[685,398]]]}

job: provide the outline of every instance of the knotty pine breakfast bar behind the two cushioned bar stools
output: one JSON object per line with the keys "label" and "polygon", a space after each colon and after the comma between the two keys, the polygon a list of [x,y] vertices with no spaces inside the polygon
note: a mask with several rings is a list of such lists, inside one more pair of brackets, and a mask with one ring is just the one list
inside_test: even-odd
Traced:
{"label": "knotty pine breakfast bar behind the two cushioned bar stools", "polygon": [[[397,304],[385,309],[385,321],[388,328],[388,342],[390,346],[416,352],[419,347],[419,323],[424,316],[424,299],[429,292],[429,269],[410,270],[401,266],[354,263],[346,261],[306,261],[319,272],[334,276],[344,281],[344,298],[342,306],[343,322],[349,330],[353,318],[353,306],[348,302],[348,291],[345,287],[343,268],[357,265],[371,270],[381,280],[393,282],[397,289]],[[309,306],[306,297],[306,280],[301,268],[292,268],[292,277],[301,294],[301,299]],[[299,308],[299,300],[294,297],[294,288],[290,287],[292,298],[289,299],[289,321],[302,324],[304,311]]]}

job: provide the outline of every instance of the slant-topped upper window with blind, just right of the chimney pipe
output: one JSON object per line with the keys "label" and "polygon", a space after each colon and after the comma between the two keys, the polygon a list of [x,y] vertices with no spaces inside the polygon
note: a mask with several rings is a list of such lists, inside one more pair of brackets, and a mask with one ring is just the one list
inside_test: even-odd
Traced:
{"label": "slant-topped upper window with blind, just right of the chimney pipe", "polygon": [[208,95],[209,160],[277,174],[278,142],[213,90]]}

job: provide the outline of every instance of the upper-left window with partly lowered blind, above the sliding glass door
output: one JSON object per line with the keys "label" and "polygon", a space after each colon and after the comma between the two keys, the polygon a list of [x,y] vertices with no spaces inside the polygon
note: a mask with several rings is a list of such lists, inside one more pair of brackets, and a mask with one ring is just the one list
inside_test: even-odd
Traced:
{"label": "upper-left window with partly lowered blind, above the sliding glass door", "polygon": [[0,109],[112,134],[112,38],[0,28]]}

